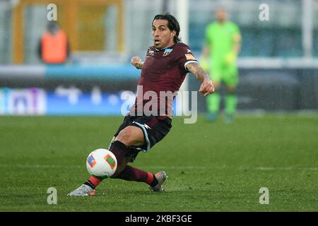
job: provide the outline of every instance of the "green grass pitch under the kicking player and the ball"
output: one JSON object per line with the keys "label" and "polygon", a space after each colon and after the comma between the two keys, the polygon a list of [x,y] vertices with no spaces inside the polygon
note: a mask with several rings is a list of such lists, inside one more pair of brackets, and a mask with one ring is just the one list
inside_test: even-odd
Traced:
{"label": "green grass pitch under the kicking player and the ball", "polygon": [[[68,197],[86,157],[107,148],[123,117],[0,117],[0,211],[317,211],[318,116],[266,114],[172,130],[132,164],[165,170],[165,191],[105,179],[96,196]],[[57,189],[57,205],[47,189]],[[259,189],[269,189],[269,204]]]}

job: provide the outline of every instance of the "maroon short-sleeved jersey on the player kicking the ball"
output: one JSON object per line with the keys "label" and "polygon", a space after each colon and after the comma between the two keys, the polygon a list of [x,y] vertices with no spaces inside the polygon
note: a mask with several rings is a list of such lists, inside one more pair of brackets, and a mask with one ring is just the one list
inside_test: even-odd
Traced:
{"label": "maroon short-sleeved jersey on the player kicking the ball", "polygon": [[185,76],[187,64],[196,61],[191,50],[182,42],[156,49],[149,47],[141,69],[137,97],[131,115],[170,115],[173,99]]}

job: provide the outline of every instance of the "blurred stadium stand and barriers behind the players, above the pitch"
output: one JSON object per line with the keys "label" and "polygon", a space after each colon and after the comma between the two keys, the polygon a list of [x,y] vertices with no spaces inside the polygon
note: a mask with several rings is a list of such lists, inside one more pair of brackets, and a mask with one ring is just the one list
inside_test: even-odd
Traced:
{"label": "blurred stadium stand and barriers behind the players, above the pitch", "polygon": [[[134,55],[145,57],[152,44],[153,16],[164,11],[176,15],[176,2],[1,0],[0,114],[1,103],[8,102],[1,95],[4,88],[54,93],[59,85],[75,85],[89,93],[98,85],[102,93],[135,92],[140,71],[129,61]],[[57,22],[70,37],[71,58],[64,66],[45,66],[37,56],[52,3],[57,4]],[[259,20],[263,3],[189,0],[190,47],[199,58],[206,25],[214,20],[216,8],[224,6],[242,32],[238,108],[318,109],[318,0],[267,0],[269,21]],[[197,90],[199,82],[189,76],[188,86]],[[204,97],[198,97],[204,112]]]}

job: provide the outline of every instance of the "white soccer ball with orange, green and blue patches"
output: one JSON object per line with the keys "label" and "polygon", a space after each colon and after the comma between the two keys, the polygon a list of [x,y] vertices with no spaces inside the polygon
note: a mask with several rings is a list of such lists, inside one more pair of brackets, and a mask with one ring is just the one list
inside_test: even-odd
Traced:
{"label": "white soccer ball with orange, green and blue patches", "polygon": [[111,177],[116,171],[117,159],[110,150],[98,148],[88,155],[86,168],[90,175],[105,179]]}

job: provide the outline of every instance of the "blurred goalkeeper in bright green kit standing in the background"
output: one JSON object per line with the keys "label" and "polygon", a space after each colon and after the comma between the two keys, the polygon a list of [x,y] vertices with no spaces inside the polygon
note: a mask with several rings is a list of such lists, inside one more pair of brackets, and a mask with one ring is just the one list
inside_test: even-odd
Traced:
{"label": "blurred goalkeeper in bright green kit standing in the background", "polygon": [[[238,73],[236,66],[237,54],[240,52],[241,35],[240,29],[227,20],[224,8],[216,11],[217,21],[208,24],[206,28],[206,46],[202,54],[202,67],[208,71],[213,80],[216,92],[207,97],[208,114],[206,119],[215,121],[220,111],[220,83],[226,86],[225,95],[225,122],[233,120],[237,107],[237,95],[235,88],[238,84]],[[209,56],[209,61],[208,59]],[[206,62],[206,65],[204,65]]]}

